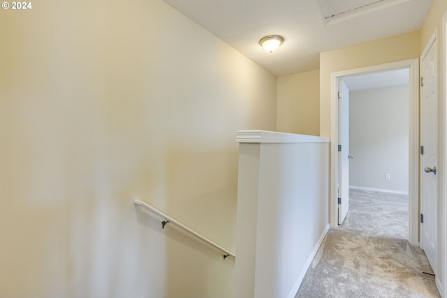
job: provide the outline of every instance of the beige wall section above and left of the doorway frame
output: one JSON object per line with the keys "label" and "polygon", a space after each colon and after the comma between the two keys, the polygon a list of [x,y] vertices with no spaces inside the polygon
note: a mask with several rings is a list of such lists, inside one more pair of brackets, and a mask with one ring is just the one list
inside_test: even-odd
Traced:
{"label": "beige wall section above and left of the doorway frame", "polygon": [[320,54],[320,135],[330,137],[330,75],[420,56],[420,31]]}

